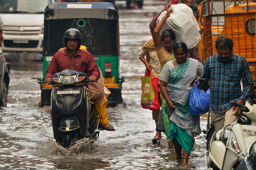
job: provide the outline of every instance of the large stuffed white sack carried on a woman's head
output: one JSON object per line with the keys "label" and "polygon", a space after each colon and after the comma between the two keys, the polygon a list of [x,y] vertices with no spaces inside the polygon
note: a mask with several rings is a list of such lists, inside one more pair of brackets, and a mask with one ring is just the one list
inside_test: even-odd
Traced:
{"label": "large stuffed white sack carried on a woman's head", "polygon": [[[188,49],[193,48],[201,40],[200,30],[196,18],[193,15],[192,9],[185,4],[171,5],[169,9],[173,10],[170,17],[163,23],[160,35],[164,30],[172,30],[175,34],[176,42],[184,42]],[[185,13],[186,12],[186,13]],[[164,11],[157,19],[157,24],[167,13]],[[191,17],[192,16],[192,17]]]}

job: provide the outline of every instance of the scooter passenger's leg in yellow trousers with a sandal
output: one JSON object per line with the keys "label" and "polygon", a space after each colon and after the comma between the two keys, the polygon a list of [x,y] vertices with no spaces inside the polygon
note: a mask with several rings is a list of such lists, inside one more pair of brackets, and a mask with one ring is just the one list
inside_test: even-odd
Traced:
{"label": "scooter passenger's leg in yellow trousers with a sandal", "polygon": [[114,127],[109,123],[108,117],[107,117],[106,108],[108,103],[108,96],[106,97],[106,99],[107,101],[102,106],[96,100],[94,100],[94,105],[100,116],[100,125],[109,130],[114,130]]}

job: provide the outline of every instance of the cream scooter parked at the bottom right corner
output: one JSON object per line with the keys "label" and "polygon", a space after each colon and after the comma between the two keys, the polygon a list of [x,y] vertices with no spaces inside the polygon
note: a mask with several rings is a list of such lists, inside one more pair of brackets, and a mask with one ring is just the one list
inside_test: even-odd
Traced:
{"label": "cream scooter parked at the bottom right corner", "polygon": [[[250,125],[233,123],[225,125],[216,133],[210,150],[205,152],[207,170],[235,170],[245,160],[247,148],[256,141],[256,98],[245,101],[245,105],[233,102],[250,119]],[[254,155],[256,152],[254,152]],[[207,160],[208,154],[208,160]],[[240,165],[239,165],[240,166]],[[251,168],[254,169],[254,168]]]}

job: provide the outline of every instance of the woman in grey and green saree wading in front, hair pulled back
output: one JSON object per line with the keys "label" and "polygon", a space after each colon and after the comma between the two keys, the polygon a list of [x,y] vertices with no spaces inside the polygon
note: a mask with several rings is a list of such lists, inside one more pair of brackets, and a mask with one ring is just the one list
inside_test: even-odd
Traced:
{"label": "woman in grey and green saree wading in front, hair pulled back", "polygon": [[160,90],[166,101],[165,112],[170,120],[168,138],[173,142],[178,162],[185,166],[195,142],[194,136],[201,133],[200,116],[189,114],[188,95],[194,81],[201,76],[203,65],[188,58],[188,48],[184,42],[175,43],[173,52],[175,60],[168,61],[162,69]]}

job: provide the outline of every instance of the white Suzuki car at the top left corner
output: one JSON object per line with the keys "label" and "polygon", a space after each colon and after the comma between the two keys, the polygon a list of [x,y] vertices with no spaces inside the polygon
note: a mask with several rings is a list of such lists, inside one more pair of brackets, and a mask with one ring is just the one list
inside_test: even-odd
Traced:
{"label": "white Suzuki car at the top left corner", "polygon": [[47,5],[57,0],[1,0],[4,52],[43,51],[43,18]]}

